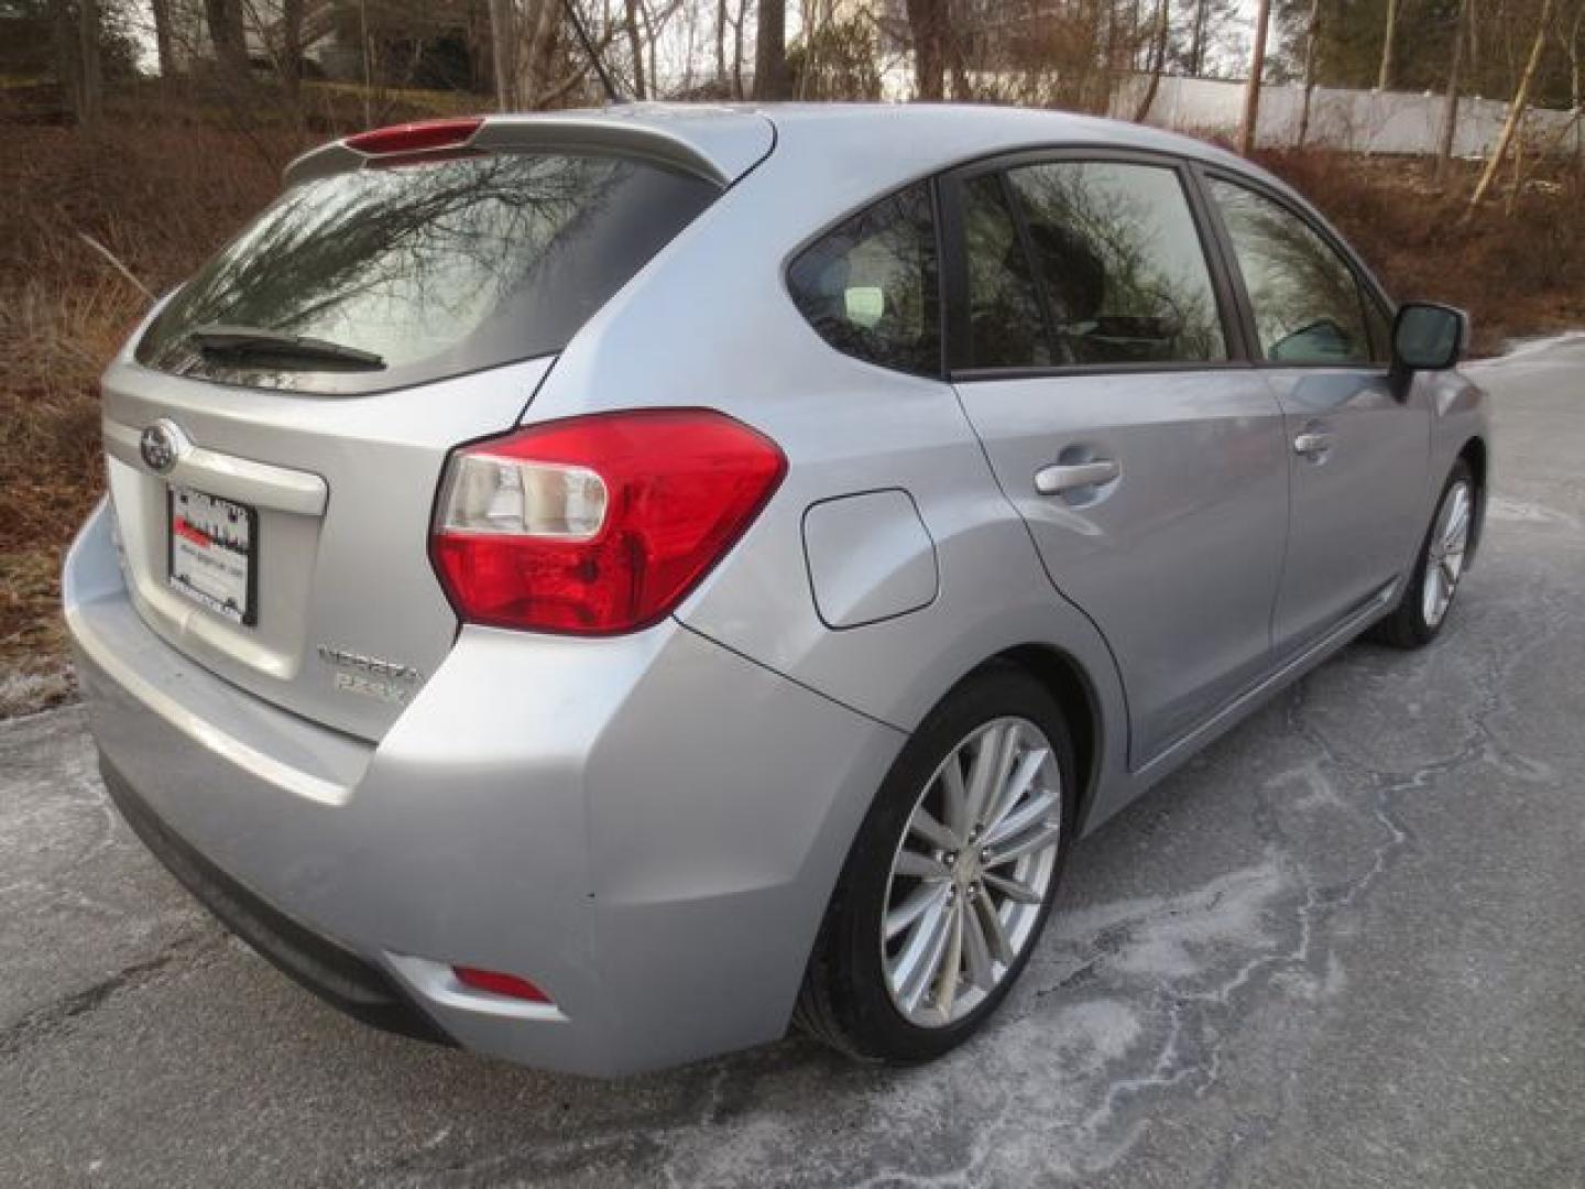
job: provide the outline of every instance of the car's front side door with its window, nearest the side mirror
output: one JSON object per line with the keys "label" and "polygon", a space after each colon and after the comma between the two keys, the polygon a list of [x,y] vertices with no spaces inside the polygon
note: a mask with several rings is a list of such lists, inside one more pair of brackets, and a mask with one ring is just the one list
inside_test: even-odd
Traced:
{"label": "car's front side door with its window, nearest the side mirror", "polygon": [[1206,193],[1282,404],[1293,503],[1273,633],[1298,652],[1392,596],[1423,530],[1428,398],[1388,380],[1381,296],[1319,225],[1247,181],[1211,176]]}

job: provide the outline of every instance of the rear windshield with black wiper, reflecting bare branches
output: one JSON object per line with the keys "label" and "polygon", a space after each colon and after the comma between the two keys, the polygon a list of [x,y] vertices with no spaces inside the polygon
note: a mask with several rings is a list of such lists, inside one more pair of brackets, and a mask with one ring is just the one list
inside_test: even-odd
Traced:
{"label": "rear windshield with black wiper, reflecting bare branches", "polygon": [[[582,154],[317,178],[282,193],[209,260],[149,327],[136,358],[228,384],[361,393],[545,355],[716,193],[661,165]],[[217,347],[216,327],[352,354]]]}

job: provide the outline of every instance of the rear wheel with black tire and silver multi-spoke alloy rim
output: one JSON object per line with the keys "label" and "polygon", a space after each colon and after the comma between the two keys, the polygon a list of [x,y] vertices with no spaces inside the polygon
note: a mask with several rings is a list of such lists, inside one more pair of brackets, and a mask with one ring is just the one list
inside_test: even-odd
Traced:
{"label": "rear wheel with black tire and silver multi-spoke alloy rim", "polygon": [[957,685],[859,828],[794,1023],[888,1062],[927,1061],[978,1032],[1051,915],[1076,789],[1062,710],[1040,682],[999,666]]}

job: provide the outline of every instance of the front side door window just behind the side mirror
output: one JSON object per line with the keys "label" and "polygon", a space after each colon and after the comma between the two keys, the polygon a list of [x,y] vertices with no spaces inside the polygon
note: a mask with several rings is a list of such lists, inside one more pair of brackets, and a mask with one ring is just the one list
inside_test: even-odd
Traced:
{"label": "front side door window just behind the side mirror", "polygon": [[1368,363],[1371,339],[1354,270],[1308,222],[1243,185],[1211,179],[1273,363]]}

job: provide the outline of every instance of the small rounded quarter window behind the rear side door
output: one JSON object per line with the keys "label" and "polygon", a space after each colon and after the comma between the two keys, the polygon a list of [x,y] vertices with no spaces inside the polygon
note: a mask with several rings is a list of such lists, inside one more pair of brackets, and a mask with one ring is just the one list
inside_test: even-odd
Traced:
{"label": "small rounded quarter window behind the rear side door", "polygon": [[911,185],[848,219],[788,268],[799,311],[837,350],[883,368],[941,369],[935,220]]}

